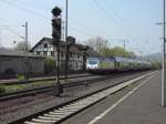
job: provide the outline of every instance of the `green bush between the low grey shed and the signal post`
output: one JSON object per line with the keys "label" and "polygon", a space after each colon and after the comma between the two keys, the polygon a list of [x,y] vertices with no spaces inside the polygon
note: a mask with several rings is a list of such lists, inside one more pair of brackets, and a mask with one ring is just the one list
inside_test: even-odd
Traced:
{"label": "green bush between the low grey shed and the signal post", "polygon": [[53,59],[46,58],[44,60],[44,73],[51,73],[54,72],[56,65],[55,65],[55,61]]}

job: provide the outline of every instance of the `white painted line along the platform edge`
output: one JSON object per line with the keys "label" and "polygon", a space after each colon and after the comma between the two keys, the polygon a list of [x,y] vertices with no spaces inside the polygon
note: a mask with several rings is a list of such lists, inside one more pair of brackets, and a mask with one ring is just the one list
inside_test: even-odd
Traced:
{"label": "white painted line along the platform edge", "polygon": [[[156,75],[156,74],[155,74]],[[115,108],[120,103],[122,103],[124,100],[126,100],[129,95],[132,95],[134,92],[136,92],[142,85],[144,85],[145,83],[147,83],[152,78],[154,78],[155,75],[149,76],[148,79],[146,79],[144,82],[142,82],[139,85],[137,85],[135,89],[133,89],[132,91],[129,91],[125,96],[123,96],[122,99],[120,99],[115,104],[113,104],[111,107],[108,107],[106,111],[104,111],[103,113],[101,113],[98,116],[94,117],[91,122],[89,122],[89,124],[95,124],[98,120],[103,118],[108,112],[111,112],[113,108]]]}

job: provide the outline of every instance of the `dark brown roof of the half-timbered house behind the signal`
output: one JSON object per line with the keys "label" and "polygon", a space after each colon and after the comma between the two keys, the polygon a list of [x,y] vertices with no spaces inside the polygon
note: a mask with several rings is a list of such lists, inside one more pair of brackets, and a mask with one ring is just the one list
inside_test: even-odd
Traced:
{"label": "dark brown roof of the half-timbered house behind the signal", "polygon": [[[41,39],[30,51],[32,52],[39,44],[41,44],[43,41],[49,41],[51,44],[53,44],[53,40],[50,38],[43,38]],[[83,54],[83,51],[80,48],[83,48],[85,45],[83,44],[79,44],[75,43],[70,48],[70,52],[71,53],[79,53],[79,54]],[[61,48],[60,48],[61,52],[65,52],[65,42],[61,41]],[[96,51],[94,51],[91,46],[89,46],[86,54],[89,56],[96,56],[96,58],[101,58],[102,55],[100,53],[97,53]]]}

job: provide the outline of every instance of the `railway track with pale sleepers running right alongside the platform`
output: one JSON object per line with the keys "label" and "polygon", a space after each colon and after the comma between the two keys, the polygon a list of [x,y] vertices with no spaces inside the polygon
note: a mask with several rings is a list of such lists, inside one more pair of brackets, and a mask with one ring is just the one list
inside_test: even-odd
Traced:
{"label": "railway track with pale sleepers running right alongside the platform", "polygon": [[131,85],[132,83],[137,82],[154,73],[155,72],[151,72],[148,74],[132,78],[127,81],[120,82],[117,84],[95,91],[85,96],[70,101],[65,104],[62,104],[61,106],[55,106],[55,107],[35,113],[33,115],[18,120],[15,122],[11,122],[9,124],[60,124],[61,122],[71,117],[72,115],[105,99],[107,95],[115,93],[120,91],[121,89],[124,89],[125,86]]}

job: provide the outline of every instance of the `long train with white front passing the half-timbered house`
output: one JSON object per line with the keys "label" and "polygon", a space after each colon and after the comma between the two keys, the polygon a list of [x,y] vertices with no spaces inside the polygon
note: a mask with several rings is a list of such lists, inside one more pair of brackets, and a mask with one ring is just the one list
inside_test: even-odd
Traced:
{"label": "long train with white front passing the half-timbered house", "polygon": [[90,72],[137,71],[151,68],[151,62],[122,56],[89,58],[86,62],[86,70]]}

